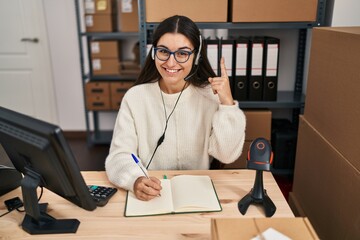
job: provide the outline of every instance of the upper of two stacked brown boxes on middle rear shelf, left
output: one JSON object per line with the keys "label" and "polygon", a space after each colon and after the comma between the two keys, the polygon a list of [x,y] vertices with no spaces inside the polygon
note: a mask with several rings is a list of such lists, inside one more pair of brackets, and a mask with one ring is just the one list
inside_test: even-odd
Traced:
{"label": "upper of two stacked brown boxes on middle rear shelf, left", "polygon": [[119,59],[118,41],[91,41],[91,57],[94,58],[116,58]]}

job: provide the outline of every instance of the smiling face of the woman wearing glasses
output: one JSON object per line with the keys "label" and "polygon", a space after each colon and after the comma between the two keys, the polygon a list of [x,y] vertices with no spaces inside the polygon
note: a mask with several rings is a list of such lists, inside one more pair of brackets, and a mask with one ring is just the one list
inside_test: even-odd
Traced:
{"label": "smiling face of the woman wearing glasses", "polygon": [[[183,50],[186,52],[192,52],[194,50],[194,46],[191,44],[190,40],[186,38],[184,35],[180,33],[166,33],[164,34],[158,41],[156,48],[157,55],[164,53],[166,54],[166,50],[171,52],[175,52],[178,50]],[[165,49],[165,51],[164,51]],[[166,61],[160,60],[157,56],[155,56],[155,65],[157,70],[159,71],[163,83],[170,88],[180,89],[184,85],[184,78],[189,75],[192,63],[195,54],[191,54],[189,59],[184,63],[179,63],[175,60],[174,55],[176,55],[177,59],[182,61],[181,58],[185,55],[185,52],[178,52],[175,54],[171,54],[170,58]]]}

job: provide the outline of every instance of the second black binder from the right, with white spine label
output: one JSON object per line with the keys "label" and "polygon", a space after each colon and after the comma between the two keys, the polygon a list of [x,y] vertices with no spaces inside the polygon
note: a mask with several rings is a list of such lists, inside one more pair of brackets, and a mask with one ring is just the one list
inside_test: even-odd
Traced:
{"label": "second black binder from the right, with white spine label", "polygon": [[251,69],[249,79],[249,100],[261,101],[263,90],[264,37],[253,37],[250,43]]}

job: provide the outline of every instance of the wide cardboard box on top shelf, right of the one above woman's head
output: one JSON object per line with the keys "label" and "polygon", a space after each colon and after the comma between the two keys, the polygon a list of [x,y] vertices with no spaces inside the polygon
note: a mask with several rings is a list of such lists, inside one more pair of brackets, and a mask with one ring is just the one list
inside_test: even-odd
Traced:
{"label": "wide cardboard box on top shelf, right of the one above woman's head", "polygon": [[[232,22],[315,22],[318,0],[232,0]],[[206,11],[205,11],[206,12]]]}

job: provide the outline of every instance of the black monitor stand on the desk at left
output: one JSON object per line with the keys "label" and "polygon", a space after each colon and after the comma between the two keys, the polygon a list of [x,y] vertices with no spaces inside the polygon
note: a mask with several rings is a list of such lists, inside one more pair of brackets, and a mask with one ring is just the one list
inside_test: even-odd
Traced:
{"label": "black monitor stand on the desk at left", "polygon": [[21,189],[25,207],[25,218],[22,228],[30,234],[75,233],[80,221],[77,219],[55,219],[46,213],[47,203],[38,203],[37,191],[41,176],[27,169],[21,181]]}

